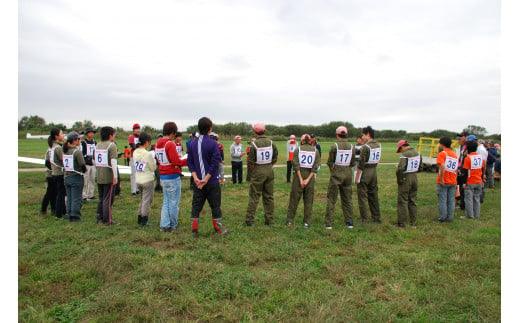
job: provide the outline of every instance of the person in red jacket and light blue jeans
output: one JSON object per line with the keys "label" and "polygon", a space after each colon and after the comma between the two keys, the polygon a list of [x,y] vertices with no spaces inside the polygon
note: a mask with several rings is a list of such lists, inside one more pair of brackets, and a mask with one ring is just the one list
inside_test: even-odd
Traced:
{"label": "person in red jacket and light blue jeans", "polygon": [[164,197],[160,223],[162,232],[177,229],[181,199],[181,167],[187,165],[186,159],[180,159],[177,147],[172,142],[176,133],[177,124],[166,122],[163,126],[163,138],[155,145],[155,157],[159,162]]}

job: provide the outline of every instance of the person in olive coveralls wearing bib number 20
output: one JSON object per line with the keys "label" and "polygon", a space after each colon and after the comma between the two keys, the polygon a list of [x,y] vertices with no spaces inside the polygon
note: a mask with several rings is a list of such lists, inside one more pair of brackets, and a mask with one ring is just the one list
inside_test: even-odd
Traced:
{"label": "person in olive coveralls wearing bib number 20", "polygon": [[301,146],[293,155],[294,178],[287,208],[286,226],[292,225],[298,208],[298,202],[303,194],[303,227],[308,228],[312,218],[314,202],[315,174],[321,162],[320,152],[311,144],[311,137],[305,134],[301,138]]}

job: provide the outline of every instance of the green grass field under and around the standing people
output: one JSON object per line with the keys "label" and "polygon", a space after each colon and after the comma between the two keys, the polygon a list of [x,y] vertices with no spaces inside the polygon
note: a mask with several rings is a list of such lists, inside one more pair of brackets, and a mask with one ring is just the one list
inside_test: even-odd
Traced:
{"label": "green grass field under and around the standing people", "polygon": [[[224,142],[226,149],[230,142]],[[279,164],[285,164],[285,143]],[[385,161],[397,161],[384,144]],[[322,143],[328,153],[330,144]],[[19,140],[19,155],[41,157],[45,143]],[[226,158],[229,154],[226,150]],[[22,165],[23,166],[23,165]],[[22,167],[19,164],[19,167]],[[230,169],[226,169],[229,174]],[[199,238],[191,236],[191,191],[183,180],[180,227],[159,232],[162,195],[148,228],[138,228],[138,199],[114,203],[119,226],[95,224],[95,202],[84,222],[39,216],[44,172],[18,173],[18,318],[20,321],[498,321],[500,320],[500,183],[486,191],[479,220],[437,224],[436,174],[419,174],[419,223],[398,230],[395,166],[380,165],[383,224],[342,226],[339,205],[323,228],[329,172],[316,183],[311,228],[287,229],[290,185],[275,168],[275,226],[243,226],[248,184],[222,189],[229,236],[212,232],[206,206]],[[96,191],[97,195],[97,191]],[[359,219],[354,188],[354,219]]]}

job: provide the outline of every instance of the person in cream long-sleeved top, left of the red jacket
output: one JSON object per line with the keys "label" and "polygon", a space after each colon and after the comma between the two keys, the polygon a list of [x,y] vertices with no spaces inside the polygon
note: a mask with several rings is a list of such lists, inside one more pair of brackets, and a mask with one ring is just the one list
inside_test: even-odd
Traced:
{"label": "person in cream long-sleeved top, left of the red jacket", "polygon": [[135,181],[139,192],[141,192],[141,201],[137,209],[137,224],[143,227],[148,225],[150,205],[154,193],[154,172],[157,169],[155,158],[148,151],[151,144],[152,137],[145,132],[141,132],[137,149],[134,151]]}

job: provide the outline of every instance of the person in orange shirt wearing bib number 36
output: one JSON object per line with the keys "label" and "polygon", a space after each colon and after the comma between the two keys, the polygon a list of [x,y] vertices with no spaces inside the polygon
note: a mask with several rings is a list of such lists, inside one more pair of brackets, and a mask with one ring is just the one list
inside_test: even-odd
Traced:
{"label": "person in orange shirt wearing bib number 36", "polygon": [[437,197],[439,199],[438,222],[452,222],[455,213],[455,193],[457,190],[457,170],[459,161],[457,154],[451,150],[450,137],[439,139],[437,154],[439,176],[437,177]]}

